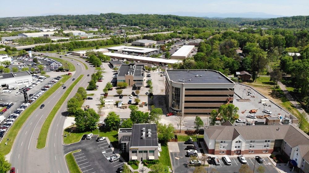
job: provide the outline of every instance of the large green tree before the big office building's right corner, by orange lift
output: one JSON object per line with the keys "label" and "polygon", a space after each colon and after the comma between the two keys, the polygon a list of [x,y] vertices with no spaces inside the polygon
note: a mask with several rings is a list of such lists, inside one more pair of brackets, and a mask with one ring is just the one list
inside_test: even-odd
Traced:
{"label": "large green tree before the big office building's right corner, by orange lift", "polygon": [[221,105],[219,107],[219,113],[222,116],[221,123],[226,121],[230,121],[232,124],[235,123],[235,120],[239,118],[238,110],[239,108],[233,104]]}

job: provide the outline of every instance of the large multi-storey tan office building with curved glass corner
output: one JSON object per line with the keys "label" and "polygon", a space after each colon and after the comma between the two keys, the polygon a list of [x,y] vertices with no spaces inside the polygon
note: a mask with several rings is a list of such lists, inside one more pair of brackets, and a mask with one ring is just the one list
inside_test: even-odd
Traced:
{"label": "large multi-storey tan office building with curved glass corner", "polygon": [[235,83],[215,70],[166,70],[165,96],[177,115],[210,115],[233,103]]}

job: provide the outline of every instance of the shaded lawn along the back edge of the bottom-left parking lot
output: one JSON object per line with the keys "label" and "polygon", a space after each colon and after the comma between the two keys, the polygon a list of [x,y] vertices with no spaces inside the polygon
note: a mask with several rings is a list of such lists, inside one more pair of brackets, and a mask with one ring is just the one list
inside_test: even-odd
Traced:
{"label": "shaded lawn along the back edge of the bottom-left parking lot", "polygon": [[[71,135],[70,134],[70,131]],[[79,131],[76,127],[71,126],[64,130],[63,134],[67,134],[67,137],[63,137],[64,144],[71,144],[78,142],[84,134],[93,133],[94,135],[98,135],[98,130],[93,131]],[[115,144],[118,141],[118,131],[107,131],[107,129],[100,129],[100,136],[108,137],[111,143]]]}

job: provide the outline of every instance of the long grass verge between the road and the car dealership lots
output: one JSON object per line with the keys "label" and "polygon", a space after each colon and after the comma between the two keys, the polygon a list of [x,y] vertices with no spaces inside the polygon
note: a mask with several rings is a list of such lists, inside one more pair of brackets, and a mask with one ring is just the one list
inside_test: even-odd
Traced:
{"label": "long grass verge between the road and the car dealership lots", "polygon": [[52,95],[62,85],[62,83],[66,82],[69,78],[70,76],[63,75],[63,78],[61,78],[55,85],[53,85],[53,87],[47,90],[41,97],[36,99],[34,103],[32,103],[25,111],[23,111],[21,115],[19,115],[18,119],[16,119],[16,121],[10,127],[10,130],[4,136],[5,139],[8,138],[9,140],[2,140],[2,142],[0,143],[0,153],[4,155],[10,153],[14,140],[28,117],[32,114],[33,111],[36,110],[36,108],[40,107],[40,105],[47,98],[49,98],[49,96]]}

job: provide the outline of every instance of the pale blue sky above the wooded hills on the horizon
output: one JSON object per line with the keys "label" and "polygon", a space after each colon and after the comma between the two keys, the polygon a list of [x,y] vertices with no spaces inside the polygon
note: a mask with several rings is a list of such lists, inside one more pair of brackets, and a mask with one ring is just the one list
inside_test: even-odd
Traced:
{"label": "pale blue sky above the wooded hills on the horizon", "polygon": [[262,12],[282,16],[309,15],[308,0],[15,0],[1,2],[0,17],[49,14],[162,14],[173,12]]}

